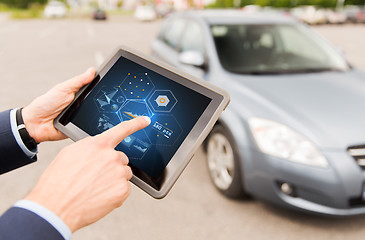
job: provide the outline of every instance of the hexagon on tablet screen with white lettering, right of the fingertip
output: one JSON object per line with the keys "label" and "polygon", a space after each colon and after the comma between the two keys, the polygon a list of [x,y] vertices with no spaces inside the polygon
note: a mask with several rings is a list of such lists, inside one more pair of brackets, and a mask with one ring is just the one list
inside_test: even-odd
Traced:
{"label": "hexagon on tablet screen with white lettering, right of the fingertip", "polygon": [[171,146],[179,138],[182,128],[173,115],[153,115],[148,136],[156,145]]}

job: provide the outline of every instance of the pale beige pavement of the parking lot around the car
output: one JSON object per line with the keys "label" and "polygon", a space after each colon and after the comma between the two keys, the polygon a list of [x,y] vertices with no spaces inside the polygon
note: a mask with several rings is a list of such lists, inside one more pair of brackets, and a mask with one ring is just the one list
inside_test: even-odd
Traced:
{"label": "pale beige pavement of the parking lot around the car", "polygon": [[[139,23],[128,16],[94,22],[13,21],[0,15],[0,110],[24,106],[53,85],[89,66],[97,67],[118,45],[149,53],[159,25],[160,21]],[[314,28],[350,63],[365,70],[365,25]],[[0,212],[24,197],[60,149],[70,143],[42,143],[37,163],[1,176]],[[165,199],[154,200],[132,187],[121,208],[78,231],[73,239],[363,239],[364,224],[365,216],[329,219],[256,200],[227,199],[210,183],[200,149]]]}

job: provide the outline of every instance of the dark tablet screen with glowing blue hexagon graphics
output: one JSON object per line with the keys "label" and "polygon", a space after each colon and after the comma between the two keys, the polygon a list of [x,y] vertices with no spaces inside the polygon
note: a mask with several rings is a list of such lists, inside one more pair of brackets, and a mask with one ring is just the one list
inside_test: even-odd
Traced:
{"label": "dark tablet screen with glowing blue hexagon graphics", "polygon": [[209,97],[120,57],[68,121],[93,136],[122,121],[149,116],[151,124],[116,149],[128,156],[135,174],[155,182],[210,102]]}

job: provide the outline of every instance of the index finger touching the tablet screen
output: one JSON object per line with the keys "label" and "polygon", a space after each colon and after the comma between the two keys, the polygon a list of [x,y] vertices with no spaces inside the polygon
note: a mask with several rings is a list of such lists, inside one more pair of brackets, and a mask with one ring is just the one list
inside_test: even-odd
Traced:
{"label": "index finger touching the tablet screen", "polygon": [[116,147],[123,139],[147,127],[150,123],[151,119],[147,116],[136,117],[132,120],[121,122],[117,126],[103,132],[99,135],[99,138],[103,138],[112,147]]}

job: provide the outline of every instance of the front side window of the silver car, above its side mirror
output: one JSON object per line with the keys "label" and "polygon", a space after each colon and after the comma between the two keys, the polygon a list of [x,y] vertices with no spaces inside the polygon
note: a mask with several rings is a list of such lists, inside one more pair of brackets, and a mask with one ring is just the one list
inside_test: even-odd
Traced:
{"label": "front side window of the silver car, above its side mirror", "polygon": [[204,54],[204,35],[199,23],[190,21],[184,31],[180,45],[181,52],[198,51]]}

